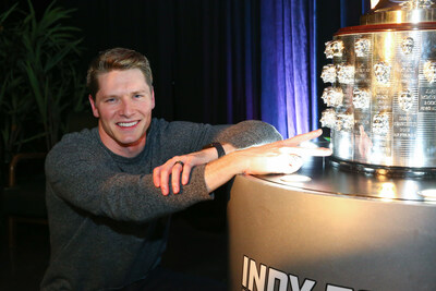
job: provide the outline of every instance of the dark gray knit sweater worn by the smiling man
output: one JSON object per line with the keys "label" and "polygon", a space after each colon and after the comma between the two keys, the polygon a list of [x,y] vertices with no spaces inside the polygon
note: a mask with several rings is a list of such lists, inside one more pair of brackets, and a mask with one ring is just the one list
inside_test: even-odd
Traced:
{"label": "dark gray knit sweater worn by the smiling man", "polygon": [[280,140],[259,121],[208,125],[153,119],[143,151],[118,156],[97,128],[65,135],[47,156],[50,264],[43,290],[112,290],[145,278],[166,247],[170,214],[213,199],[205,166],[179,195],[164,196],[153,169],[217,141],[238,148]]}

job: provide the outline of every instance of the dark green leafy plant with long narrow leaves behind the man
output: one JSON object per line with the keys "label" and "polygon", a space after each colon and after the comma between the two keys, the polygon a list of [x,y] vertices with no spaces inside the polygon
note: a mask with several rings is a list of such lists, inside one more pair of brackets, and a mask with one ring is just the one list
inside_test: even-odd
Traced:
{"label": "dark green leafy plant with long narrow leaves behind the man", "polygon": [[[0,12],[0,116],[3,160],[23,145],[44,141],[49,150],[66,128],[66,117],[86,102],[77,74],[80,29],[65,25],[73,10],[49,4],[40,17],[27,1]],[[40,150],[40,149],[39,149]]]}

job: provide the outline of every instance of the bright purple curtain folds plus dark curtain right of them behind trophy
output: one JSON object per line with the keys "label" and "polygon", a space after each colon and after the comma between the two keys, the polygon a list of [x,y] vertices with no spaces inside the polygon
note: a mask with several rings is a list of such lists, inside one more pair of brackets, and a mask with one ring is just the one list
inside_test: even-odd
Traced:
{"label": "bright purple curtain folds plus dark curtain right of them behind trophy", "polygon": [[261,0],[261,114],[290,137],[318,128],[324,43],[368,0]]}

